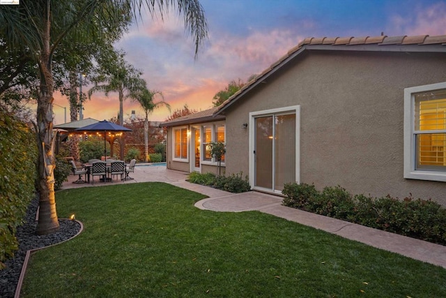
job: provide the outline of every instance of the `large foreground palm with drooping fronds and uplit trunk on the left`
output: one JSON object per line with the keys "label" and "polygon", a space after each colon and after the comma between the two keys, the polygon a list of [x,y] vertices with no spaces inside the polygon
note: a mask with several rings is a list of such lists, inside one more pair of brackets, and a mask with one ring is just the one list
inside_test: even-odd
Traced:
{"label": "large foreground palm with drooping fronds and uplit trunk on the left", "polygon": [[63,55],[57,52],[61,42],[69,33],[75,32],[80,24],[86,24],[90,31],[100,36],[107,24],[119,22],[122,5],[130,6],[132,17],[148,8],[151,15],[161,15],[175,5],[178,13],[184,15],[185,27],[194,35],[195,55],[207,37],[207,24],[203,8],[197,0],[22,0],[20,5],[3,5],[0,8],[0,36],[11,49],[33,53],[38,65],[39,83],[37,120],[35,123],[38,158],[39,217],[36,232],[49,234],[59,230],[54,196],[54,145],[53,101],[54,76],[53,58]]}

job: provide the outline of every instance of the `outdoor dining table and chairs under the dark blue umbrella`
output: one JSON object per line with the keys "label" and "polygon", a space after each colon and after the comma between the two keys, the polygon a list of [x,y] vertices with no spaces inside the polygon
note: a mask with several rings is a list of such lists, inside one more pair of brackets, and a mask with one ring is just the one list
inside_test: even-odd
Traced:
{"label": "outdoor dining table and chairs under the dark blue umbrella", "polygon": [[[132,159],[127,165],[124,161],[115,161],[108,159],[101,161],[100,159],[91,159],[88,163],[82,164],[81,168],[78,168],[74,161],[70,161],[72,166],[72,173],[79,175],[79,178],[73,183],[94,183],[94,177],[99,177],[99,181],[107,182],[112,181],[114,177],[121,177],[121,180],[131,180],[129,173],[134,172],[134,165],[136,160]],[[84,175],[84,179],[82,179]]]}

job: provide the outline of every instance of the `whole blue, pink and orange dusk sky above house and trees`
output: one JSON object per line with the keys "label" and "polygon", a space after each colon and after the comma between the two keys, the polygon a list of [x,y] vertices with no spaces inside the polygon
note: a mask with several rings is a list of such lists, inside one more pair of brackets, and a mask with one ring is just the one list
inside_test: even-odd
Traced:
{"label": "whole blue, pink and orange dusk sky above house and trees", "polygon": [[[213,106],[215,94],[231,80],[247,81],[307,37],[446,34],[446,1],[413,0],[201,0],[208,22],[208,40],[194,59],[193,40],[175,11],[161,20],[134,24],[116,43],[126,60],[141,70],[148,89],[162,91],[172,112],[187,104],[195,110]],[[89,87],[84,87],[84,91]],[[156,98],[155,100],[160,100]],[[63,124],[67,98],[56,94],[54,124]],[[84,119],[116,117],[117,94],[93,94],[84,104]],[[124,119],[132,110],[126,100]],[[149,116],[164,121],[160,107]]]}

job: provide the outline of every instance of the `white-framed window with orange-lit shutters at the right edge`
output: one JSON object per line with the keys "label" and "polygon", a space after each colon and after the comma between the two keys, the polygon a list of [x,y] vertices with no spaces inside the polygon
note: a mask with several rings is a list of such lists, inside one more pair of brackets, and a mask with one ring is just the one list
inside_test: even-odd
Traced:
{"label": "white-framed window with orange-lit shutters at the right edge", "polygon": [[446,82],[404,90],[404,177],[446,181]]}

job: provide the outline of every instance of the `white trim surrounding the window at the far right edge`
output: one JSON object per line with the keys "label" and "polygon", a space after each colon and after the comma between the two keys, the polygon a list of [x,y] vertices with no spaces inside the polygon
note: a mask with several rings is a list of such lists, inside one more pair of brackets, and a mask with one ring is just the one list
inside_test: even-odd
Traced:
{"label": "white trim surrounding the window at the far right edge", "polygon": [[445,181],[446,172],[415,170],[415,93],[446,89],[446,82],[404,89],[404,178]]}

